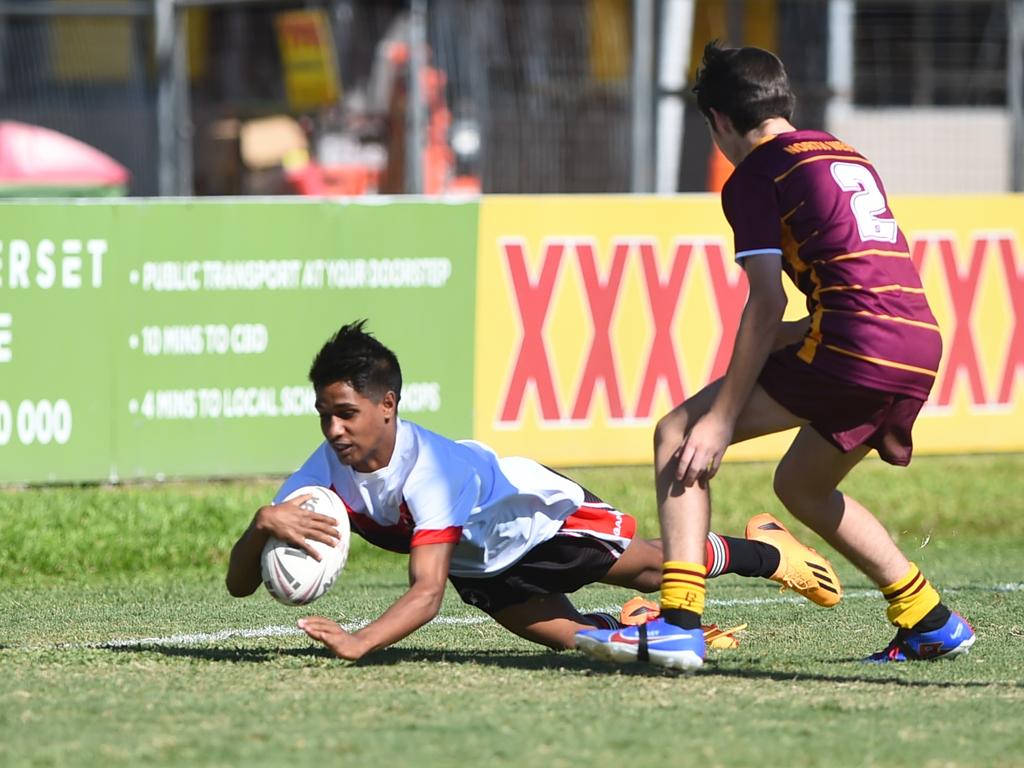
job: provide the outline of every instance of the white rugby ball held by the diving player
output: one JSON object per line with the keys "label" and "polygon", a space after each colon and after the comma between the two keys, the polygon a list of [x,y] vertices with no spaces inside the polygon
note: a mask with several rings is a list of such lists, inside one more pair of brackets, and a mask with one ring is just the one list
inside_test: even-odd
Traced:
{"label": "white rugby ball held by the diving player", "polygon": [[322,597],[338,580],[348,559],[351,530],[344,503],[333,490],[321,485],[304,485],[289,494],[285,501],[307,495],[311,496],[302,502],[303,509],[338,521],[338,544],[329,547],[307,539],[321,554],[322,559],[316,560],[305,550],[275,537],[267,540],[260,558],[263,584],[274,599],[286,605],[305,605]]}

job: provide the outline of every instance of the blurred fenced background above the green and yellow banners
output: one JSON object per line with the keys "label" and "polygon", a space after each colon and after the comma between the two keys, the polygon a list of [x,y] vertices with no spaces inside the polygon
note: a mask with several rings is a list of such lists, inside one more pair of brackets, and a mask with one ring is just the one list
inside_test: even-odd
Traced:
{"label": "blurred fenced background above the green and yellow banners", "polygon": [[890,193],[1024,189],[1024,0],[0,0],[0,195],[714,190],[714,38]]}

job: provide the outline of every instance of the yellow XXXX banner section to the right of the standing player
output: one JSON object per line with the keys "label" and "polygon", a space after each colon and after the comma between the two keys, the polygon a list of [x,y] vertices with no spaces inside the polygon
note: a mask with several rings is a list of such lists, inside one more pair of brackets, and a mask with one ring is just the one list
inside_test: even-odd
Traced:
{"label": "yellow XXXX banner section to the right of the standing player", "polygon": [[897,198],[893,210],[942,329],[916,450],[1024,450],[1024,196]]}

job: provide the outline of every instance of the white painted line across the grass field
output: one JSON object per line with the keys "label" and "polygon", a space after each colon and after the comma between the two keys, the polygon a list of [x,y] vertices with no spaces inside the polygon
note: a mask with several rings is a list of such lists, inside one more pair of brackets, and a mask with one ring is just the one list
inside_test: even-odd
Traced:
{"label": "white painted line across the grass field", "polygon": [[[955,594],[959,590],[956,589],[946,589],[943,590],[945,594]],[[996,584],[987,588],[989,592],[1021,592],[1024,591],[1024,584]],[[843,595],[844,600],[851,599],[862,599],[867,597],[878,598],[879,593],[876,590],[856,590],[853,592],[847,592]],[[807,602],[802,597],[797,597],[795,595],[785,597],[751,597],[751,598],[736,598],[728,600],[716,600],[709,599],[708,605],[777,605],[782,603],[805,603]],[[602,611],[606,613],[616,613],[618,611],[618,605],[609,605],[598,608],[582,608],[584,611]],[[349,622],[343,624],[342,627],[352,632],[365,627],[370,623],[371,620],[360,620],[355,622]],[[473,615],[473,616],[437,616],[431,624],[444,625],[444,626],[469,626],[476,624],[485,624],[493,621],[486,615]],[[53,643],[50,645],[36,645],[36,646],[23,646],[20,648],[11,648],[11,650],[75,650],[79,648],[135,648],[144,646],[160,646],[160,645],[170,645],[170,646],[180,646],[180,645],[208,645],[211,643],[218,643],[222,640],[230,640],[232,638],[264,638],[264,637],[291,637],[296,635],[304,634],[296,626],[289,625],[272,625],[269,627],[259,627],[256,629],[249,630],[220,630],[218,632],[196,632],[183,635],[168,635],[166,637],[138,637],[138,638],[122,638],[117,640],[106,640],[104,642],[95,643]]]}

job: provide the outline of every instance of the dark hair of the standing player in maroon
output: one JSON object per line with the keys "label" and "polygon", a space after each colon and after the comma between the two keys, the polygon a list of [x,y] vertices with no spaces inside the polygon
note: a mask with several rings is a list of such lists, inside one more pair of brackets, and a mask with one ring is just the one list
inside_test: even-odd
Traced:
{"label": "dark hair of the standing player in maroon", "polygon": [[722,48],[717,40],[705,46],[693,92],[713,129],[714,108],[727,115],[740,134],[769,118],[790,120],[797,105],[778,56],[762,48]]}

